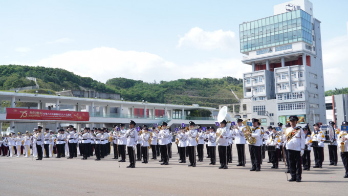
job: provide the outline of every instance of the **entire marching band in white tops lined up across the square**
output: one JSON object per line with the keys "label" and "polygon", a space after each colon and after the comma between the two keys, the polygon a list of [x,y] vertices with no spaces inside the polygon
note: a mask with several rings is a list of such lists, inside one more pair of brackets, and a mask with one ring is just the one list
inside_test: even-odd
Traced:
{"label": "entire marching band in white tops lined up across the square", "polygon": [[[119,162],[125,162],[125,154],[127,147],[129,166],[135,168],[136,161],[142,163],[149,162],[149,149],[151,149],[152,158],[157,159],[157,145],[159,145],[161,165],[169,164],[169,155],[171,154],[171,145],[169,140],[175,136],[179,150],[179,163],[186,163],[186,154],[188,154],[190,164],[188,166],[196,166],[196,146],[198,152],[198,161],[202,162],[204,153],[203,148],[206,142],[207,154],[210,158],[209,165],[216,163],[216,145],[219,153],[220,169],[227,169],[228,163],[232,161],[229,158],[229,147],[232,147],[232,140],[236,144],[238,163],[236,166],[246,166],[245,144],[248,143],[251,169],[250,171],[261,170],[261,160],[263,157],[262,146],[265,145],[265,151],[268,151],[269,160],[272,163],[272,169],[279,168],[281,161],[281,153],[286,160],[286,168],[290,173],[290,182],[301,182],[302,170],[310,170],[311,168],[311,150],[313,149],[315,165],[313,168],[322,168],[324,143],[328,144],[330,153],[330,165],[337,165],[337,148],[345,168],[344,178],[348,178],[348,134],[347,130],[334,129],[334,140],[328,142],[328,134],[324,130],[319,129],[319,125],[314,124],[314,130],[308,126],[296,126],[298,118],[290,116],[290,123],[286,128],[268,127],[268,132],[264,132],[259,127],[258,119],[252,119],[252,124],[247,121],[236,119],[236,125],[231,126],[229,118],[224,118],[219,122],[219,128],[215,131],[213,126],[203,127],[196,125],[193,121],[189,122],[189,127],[181,126],[176,128],[174,133],[167,126],[166,122],[162,122],[157,127],[147,127],[146,125],[135,127],[136,123],[131,120],[129,129],[125,128],[125,124],[114,125],[113,131],[108,132],[106,128],[89,128],[84,127],[83,131],[77,132],[74,126],[70,125],[66,130],[58,129],[57,133],[46,129],[42,133],[42,127],[38,126],[33,133],[26,131],[25,134],[18,132],[17,135],[12,131],[10,135],[0,138],[0,153],[2,156],[13,157],[21,154],[25,158],[30,155],[36,160],[50,158],[56,154],[55,158],[62,158],[69,155],[68,159],[77,157],[77,147],[79,148],[82,160],[86,160],[96,155],[96,161],[110,154],[111,144],[114,149],[114,158]],[[281,124],[281,123],[279,123]],[[278,124],[278,125],[279,125]],[[281,124],[282,125],[282,124]],[[335,128],[335,123],[330,122]],[[343,121],[341,126],[347,126],[348,122]],[[348,129],[348,128],[347,128]],[[137,146],[140,144],[140,150]],[[68,149],[67,149],[68,146]],[[336,146],[336,147],[335,147]],[[16,151],[15,151],[16,149]],[[32,153],[31,153],[32,152]],[[93,152],[95,154],[93,154]],[[136,154],[137,158],[136,159]],[[232,157],[232,155],[231,155]]]}

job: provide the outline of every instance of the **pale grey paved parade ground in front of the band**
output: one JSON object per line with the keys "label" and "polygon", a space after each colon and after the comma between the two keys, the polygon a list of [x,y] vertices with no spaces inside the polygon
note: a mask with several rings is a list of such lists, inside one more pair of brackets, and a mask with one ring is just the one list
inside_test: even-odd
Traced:
{"label": "pale grey paved parade ground in front of the band", "polygon": [[[301,183],[287,182],[284,162],[279,162],[279,169],[271,169],[267,154],[260,172],[249,171],[248,149],[246,167],[236,166],[235,145],[228,169],[217,168],[219,159],[209,165],[206,158],[197,167],[187,167],[179,163],[176,145],[172,146],[169,165],[149,160],[148,164],[137,162],[136,168],[126,168],[128,159],[118,167],[113,155],[101,161],[94,161],[95,156],[42,161],[0,157],[0,195],[346,195],[348,179],[343,178],[341,158],[337,166],[329,166],[327,146],[323,168],[303,171]],[[311,158],[313,166],[313,153]]]}

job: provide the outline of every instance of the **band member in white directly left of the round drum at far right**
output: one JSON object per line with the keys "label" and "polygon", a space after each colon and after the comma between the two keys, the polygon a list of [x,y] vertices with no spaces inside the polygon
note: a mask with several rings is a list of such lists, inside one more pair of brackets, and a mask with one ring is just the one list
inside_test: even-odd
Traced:
{"label": "band member in white directly left of the round drum at far right", "polygon": [[319,130],[319,124],[315,123],[313,124],[314,131],[312,133],[312,140],[318,142],[318,146],[313,146],[313,153],[314,153],[314,161],[315,166],[313,168],[322,168],[322,161],[324,157],[324,142],[325,141],[325,135],[322,132],[322,130]]}

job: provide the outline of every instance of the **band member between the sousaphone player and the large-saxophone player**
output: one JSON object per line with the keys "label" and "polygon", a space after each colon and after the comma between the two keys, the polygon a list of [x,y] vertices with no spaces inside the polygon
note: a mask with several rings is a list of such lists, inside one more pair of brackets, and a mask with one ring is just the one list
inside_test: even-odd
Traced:
{"label": "band member between the sousaphone player and the large-saxophone player", "polygon": [[240,118],[237,118],[237,125],[234,127],[234,142],[235,146],[237,148],[237,154],[238,154],[238,164],[237,166],[243,166],[245,167],[245,136],[243,134],[243,127],[245,127],[242,124],[243,120]]}

